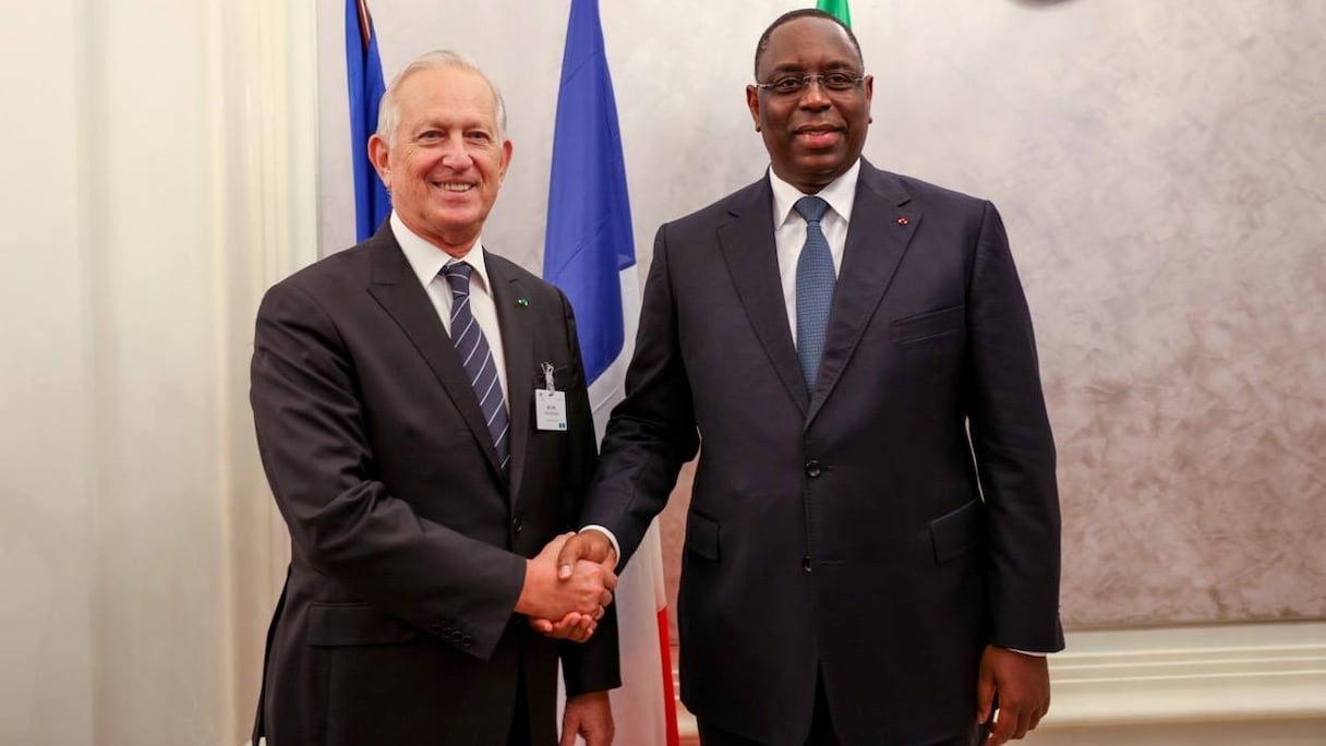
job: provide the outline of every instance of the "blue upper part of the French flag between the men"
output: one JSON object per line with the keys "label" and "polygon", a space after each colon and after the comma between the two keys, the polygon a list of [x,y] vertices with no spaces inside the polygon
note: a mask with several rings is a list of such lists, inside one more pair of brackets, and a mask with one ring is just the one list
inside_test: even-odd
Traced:
{"label": "blue upper part of the French flag between the men", "polygon": [[591,384],[622,354],[621,272],[634,265],[622,134],[598,0],[572,0],[557,94],[544,279],[572,301]]}

